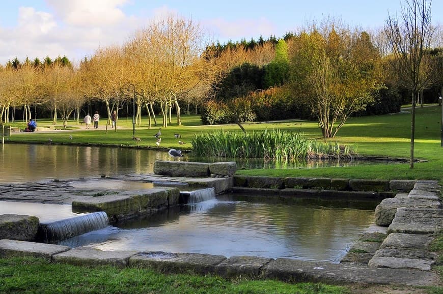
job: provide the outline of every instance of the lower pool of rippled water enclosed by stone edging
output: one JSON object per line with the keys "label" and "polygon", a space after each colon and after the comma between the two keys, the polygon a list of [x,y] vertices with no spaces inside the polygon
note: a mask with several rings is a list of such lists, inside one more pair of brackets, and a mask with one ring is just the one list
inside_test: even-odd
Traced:
{"label": "lower pool of rippled water enclosed by stone edging", "polygon": [[374,222],[376,203],[293,203],[217,197],[58,244],[339,262]]}

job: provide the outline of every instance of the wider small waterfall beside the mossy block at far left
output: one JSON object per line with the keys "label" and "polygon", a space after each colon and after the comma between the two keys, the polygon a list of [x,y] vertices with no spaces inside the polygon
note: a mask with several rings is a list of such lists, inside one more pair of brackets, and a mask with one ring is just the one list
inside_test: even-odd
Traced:
{"label": "wider small waterfall beside the mossy block at far left", "polygon": [[40,223],[37,239],[42,242],[51,243],[79,236],[107,227],[108,225],[109,219],[105,212],[94,212],[51,223]]}

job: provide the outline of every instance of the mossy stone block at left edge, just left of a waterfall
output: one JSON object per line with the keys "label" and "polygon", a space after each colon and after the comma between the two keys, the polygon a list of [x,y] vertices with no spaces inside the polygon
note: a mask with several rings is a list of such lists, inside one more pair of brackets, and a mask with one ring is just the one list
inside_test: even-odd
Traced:
{"label": "mossy stone block at left edge, just left of a waterfall", "polygon": [[0,239],[34,241],[39,223],[39,219],[35,216],[0,215]]}

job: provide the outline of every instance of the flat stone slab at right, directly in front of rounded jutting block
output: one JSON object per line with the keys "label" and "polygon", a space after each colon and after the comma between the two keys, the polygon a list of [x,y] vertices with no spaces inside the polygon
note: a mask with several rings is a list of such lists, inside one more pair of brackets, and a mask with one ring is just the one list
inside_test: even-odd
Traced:
{"label": "flat stone slab at right, directly in front of rounded jutting block", "polygon": [[443,231],[443,210],[399,208],[387,229],[388,233],[431,234]]}

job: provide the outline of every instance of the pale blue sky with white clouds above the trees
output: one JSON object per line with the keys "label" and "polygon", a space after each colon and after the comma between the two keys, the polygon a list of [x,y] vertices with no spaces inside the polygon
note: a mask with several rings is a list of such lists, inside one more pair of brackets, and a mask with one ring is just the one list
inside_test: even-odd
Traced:
{"label": "pale blue sky with white clouds above the trees", "polygon": [[[220,43],[283,37],[326,17],[364,30],[380,28],[401,13],[404,0],[0,0],[0,64],[66,55],[74,64],[108,45],[125,43],[136,30],[165,15],[199,23]],[[443,0],[432,1],[441,23]],[[441,17],[440,19],[442,19]]]}

